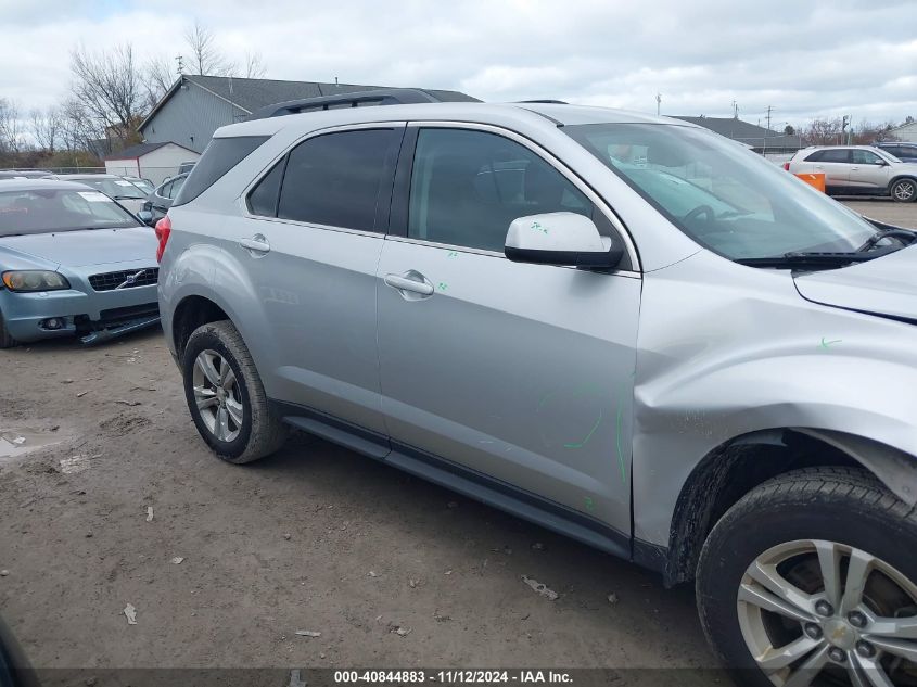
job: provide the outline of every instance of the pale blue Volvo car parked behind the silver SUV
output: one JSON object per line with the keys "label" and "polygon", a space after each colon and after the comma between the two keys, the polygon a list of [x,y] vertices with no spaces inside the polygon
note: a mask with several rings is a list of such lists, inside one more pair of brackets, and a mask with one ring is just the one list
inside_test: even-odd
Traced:
{"label": "pale blue Volvo car parked behind the silver SUV", "polygon": [[0,180],[0,348],[156,325],[156,238],[104,193]]}

